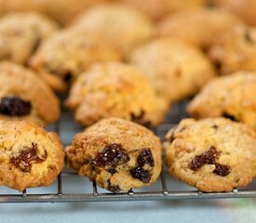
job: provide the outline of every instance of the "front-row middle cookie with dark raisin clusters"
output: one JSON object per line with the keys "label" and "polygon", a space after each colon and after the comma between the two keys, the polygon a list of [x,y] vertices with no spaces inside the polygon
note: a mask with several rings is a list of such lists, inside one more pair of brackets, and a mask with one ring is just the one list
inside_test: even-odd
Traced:
{"label": "front-row middle cookie with dark raisin clusters", "polygon": [[118,192],[155,182],[161,171],[161,143],[150,130],[109,118],[76,135],[66,150],[69,168],[106,190]]}

